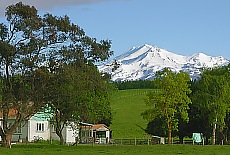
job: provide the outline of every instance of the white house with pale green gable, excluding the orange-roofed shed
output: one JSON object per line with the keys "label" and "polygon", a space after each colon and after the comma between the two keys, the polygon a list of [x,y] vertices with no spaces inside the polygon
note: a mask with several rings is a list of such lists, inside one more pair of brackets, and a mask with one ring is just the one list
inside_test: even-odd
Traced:
{"label": "white house with pale green gable, excluding the orange-roofed shed", "polygon": [[[16,110],[10,110],[8,123],[14,121]],[[59,137],[55,133],[54,125],[50,123],[53,118],[52,113],[39,112],[31,117],[28,121],[22,122],[16,129],[12,136],[12,142],[33,142],[36,140],[59,140]],[[2,114],[0,112],[0,127],[2,127]],[[63,129],[63,137],[66,143],[74,143],[75,135],[78,130],[74,130],[72,126],[67,125]],[[1,141],[1,137],[0,137]]]}

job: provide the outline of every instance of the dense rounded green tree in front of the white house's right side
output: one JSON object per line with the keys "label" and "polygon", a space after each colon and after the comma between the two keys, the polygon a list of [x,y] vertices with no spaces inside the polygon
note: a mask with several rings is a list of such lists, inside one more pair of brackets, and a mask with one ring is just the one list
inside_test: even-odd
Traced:
{"label": "dense rounded green tree in front of the white house's right side", "polygon": [[56,133],[64,144],[62,130],[75,123],[111,122],[107,82],[93,64],[68,64],[58,69],[51,87],[51,104],[56,112]]}

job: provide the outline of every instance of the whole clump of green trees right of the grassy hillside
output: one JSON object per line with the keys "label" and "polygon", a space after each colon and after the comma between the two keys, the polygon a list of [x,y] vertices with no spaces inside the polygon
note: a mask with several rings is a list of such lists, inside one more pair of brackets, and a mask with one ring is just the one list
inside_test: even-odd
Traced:
{"label": "whole clump of green trees right of the grassy hillside", "polygon": [[181,142],[193,132],[203,133],[206,143],[210,138],[212,144],[229,140],[230,64],[206,68],[195,81],[186,73],[165,69],[153,83],[160,91],[147,95],[149,109],[142,113],[149,121],[148,133],[167,136],[168,143],[172,133]]}

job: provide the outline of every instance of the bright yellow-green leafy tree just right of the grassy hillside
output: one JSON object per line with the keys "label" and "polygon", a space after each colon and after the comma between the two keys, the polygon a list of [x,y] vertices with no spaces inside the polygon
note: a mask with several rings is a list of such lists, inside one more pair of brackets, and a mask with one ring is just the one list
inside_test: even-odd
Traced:
{"label": "bright yellow-green leafy tree just right of the grassy hillside", "polygon": [[178,130],[178,118],[188,121],[189,104],[191,100],[187,96],[191,93],[189,89],[190,77],[184,72],[174,73],[165,68],[156,73],[154,86],[159,91],[147,94],[146,105],[149,109],[142,113],[144,119],[153,121],[164,120],[168,143],[171,143],[172,131]]}

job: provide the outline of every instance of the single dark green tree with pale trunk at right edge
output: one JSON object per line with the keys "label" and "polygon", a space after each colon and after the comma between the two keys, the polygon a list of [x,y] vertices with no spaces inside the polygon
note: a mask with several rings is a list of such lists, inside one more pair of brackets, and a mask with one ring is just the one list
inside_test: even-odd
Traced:
{"label": "single dark green tree with pale trunk at right edge", "polygon": [[[212,129],[213,144],[216,143],[216,131],[226,128],[226,116],[229,112],[230,74],[228,66],[207,68],[201,79],[194,83],[192,100],[199,116],[205,118],[205,126]],[[217,128],[218,127],[218,128]]]}

